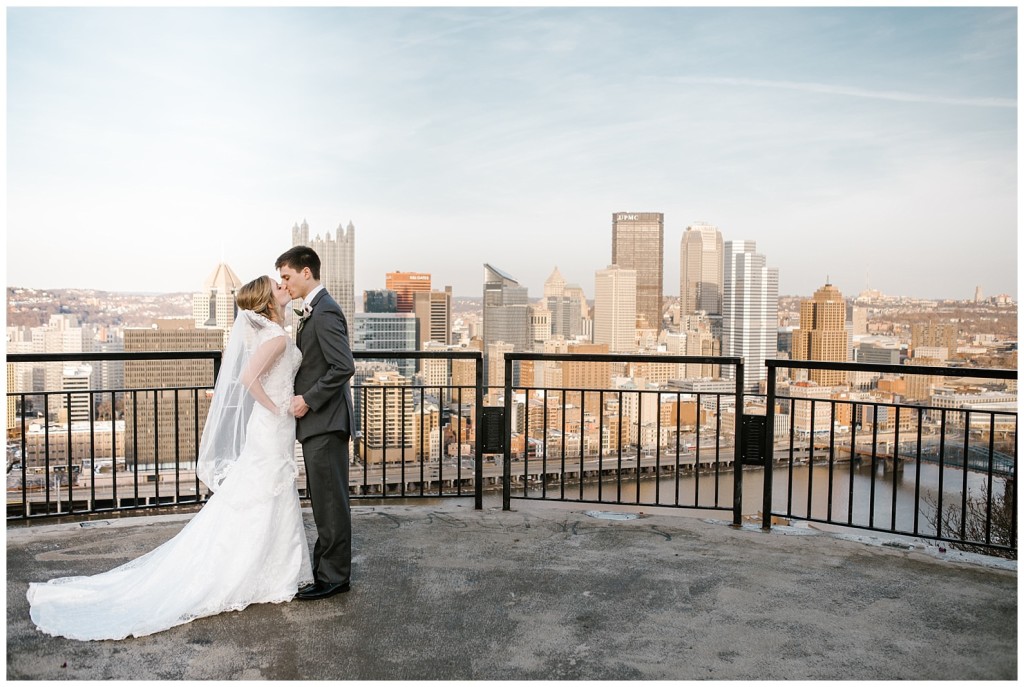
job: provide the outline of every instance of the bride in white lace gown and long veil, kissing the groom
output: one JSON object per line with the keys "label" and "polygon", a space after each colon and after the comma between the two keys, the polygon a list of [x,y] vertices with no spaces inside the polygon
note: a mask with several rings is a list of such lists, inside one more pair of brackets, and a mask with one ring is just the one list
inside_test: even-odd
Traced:
{"label": "bride in white lace gown and long veil, kissing the groom", "polygon": [[214,495],[173,539],[133,561],[30,584],[40,630],[78,640],[142,637],[289,601],[312,582],[290,411],[301,353],[282,328],[290,300],[268,276],[239,289],[197,464]]}

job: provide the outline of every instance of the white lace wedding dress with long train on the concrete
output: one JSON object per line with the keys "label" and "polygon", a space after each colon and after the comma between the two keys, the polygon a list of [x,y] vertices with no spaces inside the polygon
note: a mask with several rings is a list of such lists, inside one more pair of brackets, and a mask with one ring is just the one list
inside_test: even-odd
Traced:
{"label": "white lace wedding dress with long train on the concrete", "polygon": [[[263,321],[259,340],[287,337],[278,325]],[[281,409],[292,398],[300,359],[289,340],[259,376]],[[101,574],[29,585],[36,626],[78,640],[142,637],[252,603],[289,601],[311,583],[295,488],[295,418],[256,403],[245,427],[237,462],[173,539]]]}

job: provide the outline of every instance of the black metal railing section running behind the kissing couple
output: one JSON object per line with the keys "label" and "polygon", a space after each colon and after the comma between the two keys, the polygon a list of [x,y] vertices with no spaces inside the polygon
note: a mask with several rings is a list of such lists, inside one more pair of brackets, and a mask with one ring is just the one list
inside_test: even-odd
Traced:
{"label": "black metal railing section running behind the kissing couple", "polygon": [[[481,437],[476,431],[482,407],[482,354],[353,351],[353,357],[357,361],[446,360],[449,383],[353,385],[353,399],[364,412],[352,432],[351,497],[473,496],[476,507],[482,508],[484,482],[490,480],[497,485],[500,480],[497,468],[492,469],[496,474],[484,475],[478,443]],[[217,371],[220,351],[7,356],[13,363],[178,359],[211,359]],[[472,368],[463,384],[451,383],[456,360],[468,361]],[[8,520],[202,503],[209,492],[196,475],[196,462],[213,385],[211,375],[209,386],[8,393],[8,398],[23,410],[16,440],[20,460],[16,470],[8,469]],[[410,438],[412,422],[418,421],[421,428],[427,426],[426,406],[432,394],[437,401],[436,413],[429,418],[436,425],[433,450],[425,443],[429,440],[427,433],[417,432],[417,442]],[[51,412],[57,403],[54,398],[65,399],[63,407],[69,413],[80,398],[87,398],[88,421],[73,424],[69,417],[69,422],[52,423]],[[96,406],[103,399],[109,399],[111,405],[111,420],[105,423],[96,419]],[[39,420],[31,420],[25,412],[30,401],[38,405]],[[381,411],[376,418],[379,429],[366,413],[371,406]],[[121,409],[120,418],[115,418],[115,409]],[[392,417],[388,417],[389,413]],[[394,425],[399,427],[396,440],[386,431]],[[30,431],[33,426],[38,429]],[[443,452],[445,442],[441,440],[449,428],[451,444],[456,447],[454,457]],[[97,435],[103,438],[105,450],[97,447]],[[299,493],[303,499],[308,495],[302,479]]]}

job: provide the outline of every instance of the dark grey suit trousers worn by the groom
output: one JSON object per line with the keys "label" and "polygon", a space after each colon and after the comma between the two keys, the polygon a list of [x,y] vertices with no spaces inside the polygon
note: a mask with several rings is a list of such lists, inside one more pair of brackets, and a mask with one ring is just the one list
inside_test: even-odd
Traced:
{"label": "dark grey suit trousers worn by the groom", "polygon": [[352,570],[352,517],[348,505],[348,433],[326,432],[302,441],[306,483],[316,522],[313,578],[343,584]]}

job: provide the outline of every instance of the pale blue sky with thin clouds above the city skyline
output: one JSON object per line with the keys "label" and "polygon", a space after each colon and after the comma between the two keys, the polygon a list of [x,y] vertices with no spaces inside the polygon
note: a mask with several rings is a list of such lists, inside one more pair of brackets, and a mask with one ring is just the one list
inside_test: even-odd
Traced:
{"label": "pale blue sky with thin clouds above the city skyline", "polygon": [[[779,293],[1017,298],[1017,8],[6,9],[8,286],[191,292],[355,226],[389,271],[594,295],[617,212]],[[356,299],[361,300],[360,298]]]}

